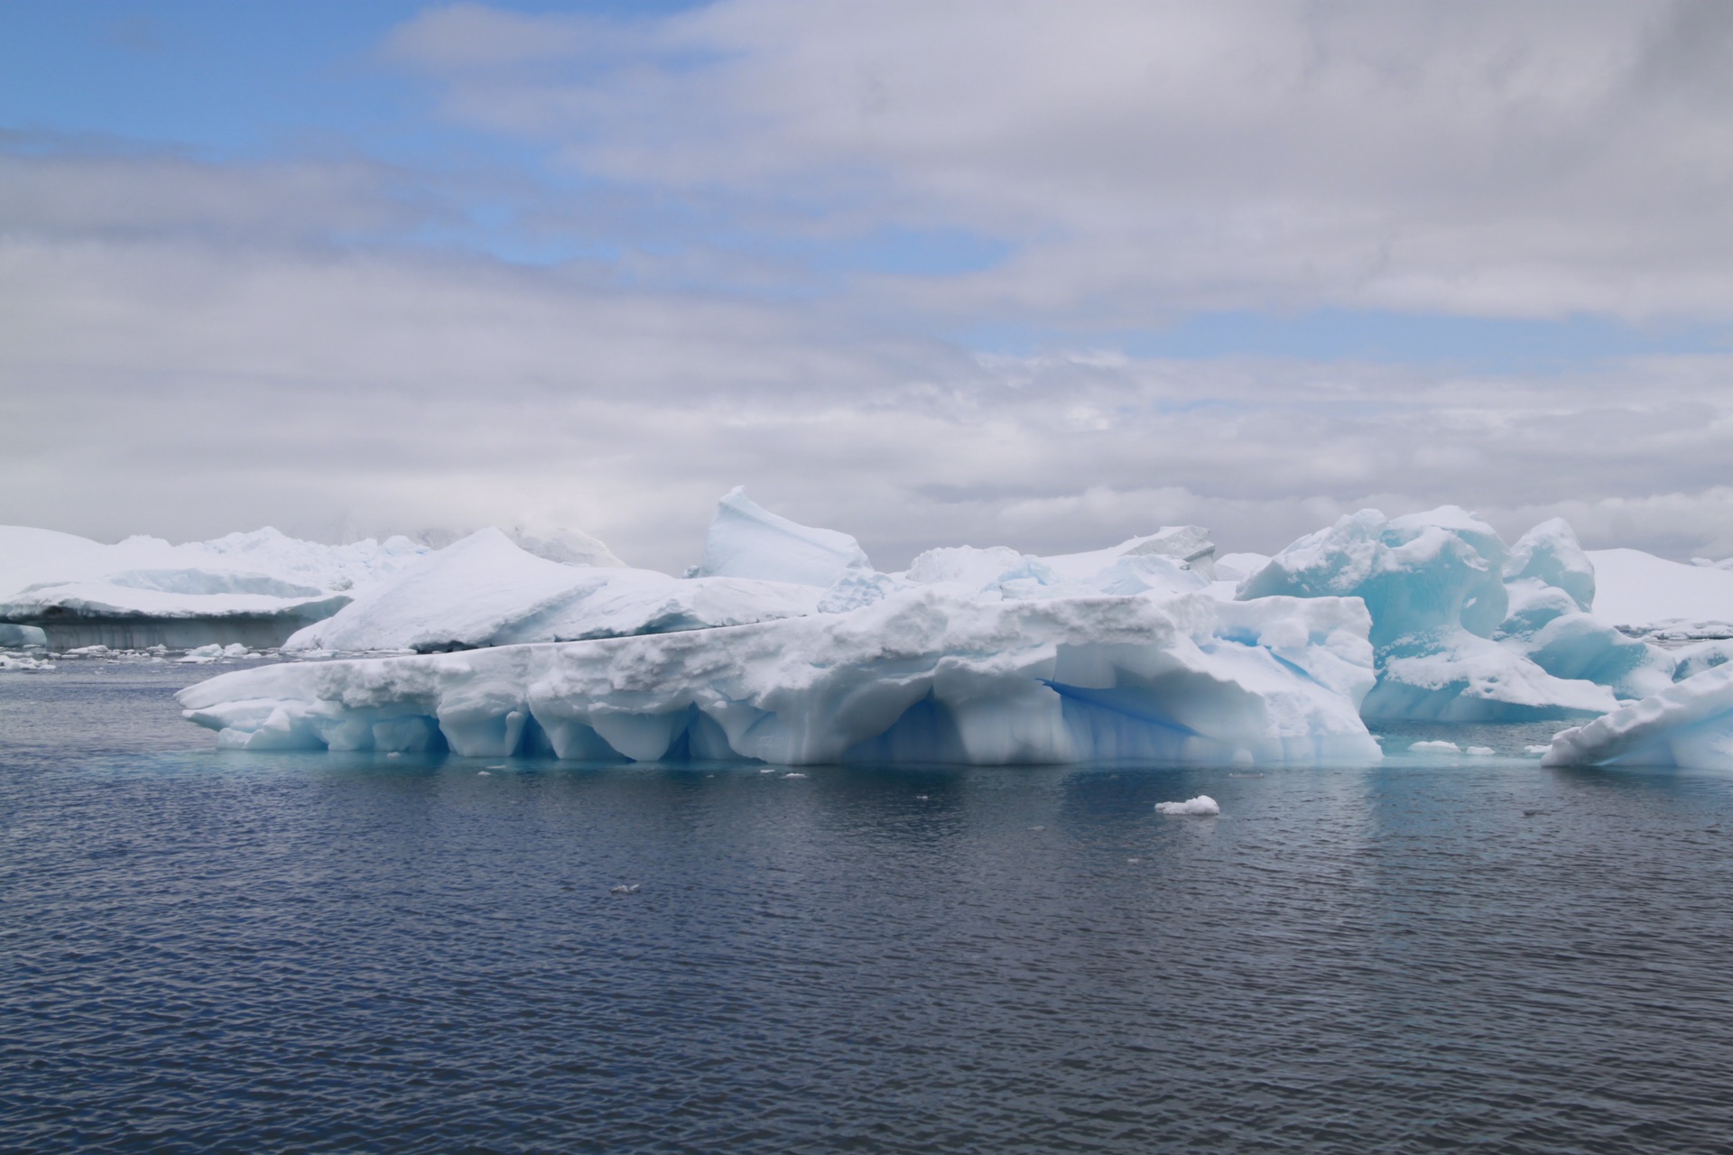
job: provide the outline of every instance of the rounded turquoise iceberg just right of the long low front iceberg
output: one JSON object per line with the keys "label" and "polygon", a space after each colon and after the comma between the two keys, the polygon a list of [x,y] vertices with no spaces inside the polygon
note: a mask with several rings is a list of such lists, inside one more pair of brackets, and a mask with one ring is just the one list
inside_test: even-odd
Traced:
{"label": "rounded turquoise iceberg just right of the long low front iceberg", "polygon": [[1277,594],[1366,603],[1378,665],[1367,719],[1589,717],[1612,710],[1615,691],[1671,679],[1669,661],[1584,613],[1594,570],[1563,521],[1511,551],[1456,506],[1364,509],[1270,558],[1236,596]]}

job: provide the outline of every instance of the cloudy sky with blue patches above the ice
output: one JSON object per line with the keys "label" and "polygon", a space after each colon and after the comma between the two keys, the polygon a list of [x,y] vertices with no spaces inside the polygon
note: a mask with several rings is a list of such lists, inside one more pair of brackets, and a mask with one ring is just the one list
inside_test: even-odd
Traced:
{"label": "cloudy sky with blue patches above the ice", "polygon": [[1724,558],[1728,59],[1714,0],[0,0],[0,523]]}

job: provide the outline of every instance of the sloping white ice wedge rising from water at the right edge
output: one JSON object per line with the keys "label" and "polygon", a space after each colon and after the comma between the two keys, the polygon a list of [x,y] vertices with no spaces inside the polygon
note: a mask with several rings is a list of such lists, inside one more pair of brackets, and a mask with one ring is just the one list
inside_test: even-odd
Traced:
{"label": "sloping white ice wedge rising from water at the right edge", "polygon": [[1733,665],[1719,665],[1553,738],[1541,765],[1733,771]]}

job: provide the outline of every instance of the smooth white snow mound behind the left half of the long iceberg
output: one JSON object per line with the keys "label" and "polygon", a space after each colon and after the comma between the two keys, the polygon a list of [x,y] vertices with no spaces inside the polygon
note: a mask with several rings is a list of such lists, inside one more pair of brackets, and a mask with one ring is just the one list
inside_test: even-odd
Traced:
{"label": "smooth white snow mound behind the left half of the long iceberg", "polygon": [[537,558],[489,528],[360,594],[282,648],[430,653],[665,634],[815,613],[820,594],[787,582],[574,568]]}

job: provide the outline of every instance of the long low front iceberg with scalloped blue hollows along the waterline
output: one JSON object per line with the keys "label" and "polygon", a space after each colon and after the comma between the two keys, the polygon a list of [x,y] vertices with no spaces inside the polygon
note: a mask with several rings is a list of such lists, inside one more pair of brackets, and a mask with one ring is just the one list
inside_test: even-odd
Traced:
{"label": "long low front iceberg with scalloped blue hollows along the waterline", "polygon": [[1376,762],[1355,601],[899,590],[737,629],[255,668],[180,693],[248,750],[561,758]]}

